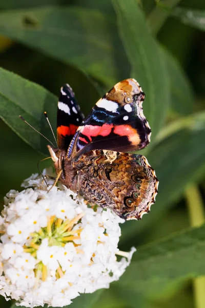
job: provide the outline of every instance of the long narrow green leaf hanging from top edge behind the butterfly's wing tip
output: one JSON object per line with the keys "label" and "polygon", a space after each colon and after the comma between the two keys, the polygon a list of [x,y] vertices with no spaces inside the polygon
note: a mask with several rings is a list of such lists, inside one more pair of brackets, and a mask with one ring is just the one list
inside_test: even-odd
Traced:
{"label": "long narrow green leaf hanging from top edge behind the butterfly's wing tip", "polygon": [[170,89],[167,67],[146,20],[135,0],[113,0],[118,16],[119,31],[130,63],[131,76],[146,93],[145,115],[152,129],[152,138],[165,122]]}

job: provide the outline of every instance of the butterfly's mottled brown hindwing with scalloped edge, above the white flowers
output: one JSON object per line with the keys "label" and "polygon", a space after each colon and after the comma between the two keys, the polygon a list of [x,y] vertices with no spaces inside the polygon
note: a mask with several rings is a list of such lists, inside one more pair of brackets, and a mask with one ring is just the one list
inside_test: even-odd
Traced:
{"label": "butterfly's mottled brown hindwing with scalloped edge, above the white flowers", "polygon": [[92,150],[73,162],[79,194],[126,220],[141,219],[157,195],[155,171],[142,155]]}

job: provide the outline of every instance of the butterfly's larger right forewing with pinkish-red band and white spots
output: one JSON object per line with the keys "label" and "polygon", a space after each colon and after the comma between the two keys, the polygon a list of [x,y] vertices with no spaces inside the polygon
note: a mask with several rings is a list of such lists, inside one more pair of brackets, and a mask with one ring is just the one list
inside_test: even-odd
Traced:
{"label": "butterfly's larger right forewing with pinkish-red band and white spots", "polygon": [[146,147],[151,129],[142,109],[144,98],[136,80],[117,83],[78,127],[68,157],[94,149],[124,152]]}

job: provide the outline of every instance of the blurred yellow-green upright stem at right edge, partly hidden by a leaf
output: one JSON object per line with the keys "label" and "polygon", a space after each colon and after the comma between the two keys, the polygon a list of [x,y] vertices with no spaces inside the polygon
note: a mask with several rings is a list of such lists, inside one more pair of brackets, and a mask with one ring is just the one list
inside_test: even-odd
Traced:
{"label": "blurred yellow-green upright stem at right edge, partly hidden by a leaf", "polygon": [[[199,227],[204,223],[203,201],[197,185],[190,185],[186,189],[186,199],[189,209],[191,226]],[[194,295],[196,308],[204,308],[205,304],[205,277],[194,279]]]}

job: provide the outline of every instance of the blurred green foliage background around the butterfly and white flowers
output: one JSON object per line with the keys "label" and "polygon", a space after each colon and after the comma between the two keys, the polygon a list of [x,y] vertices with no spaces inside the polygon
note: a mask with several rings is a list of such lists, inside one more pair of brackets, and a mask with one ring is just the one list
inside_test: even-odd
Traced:
{"label": "blurred green foliage background around the butterfly and white flowers", "polygon": [[160,182],[156,203],[122,225],[119,248],[137,247],[125,275],[73,308],[205,307],[204,30],[204,0],[0,0],[2,208],[48,155],[20,113],[52,139],[43,112],[55,129],[65,83],[85,114],[122,79],[146,93],[153,134],[141,152]]}

